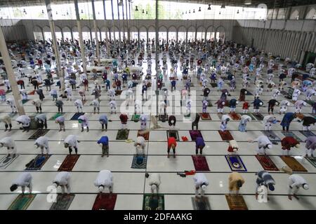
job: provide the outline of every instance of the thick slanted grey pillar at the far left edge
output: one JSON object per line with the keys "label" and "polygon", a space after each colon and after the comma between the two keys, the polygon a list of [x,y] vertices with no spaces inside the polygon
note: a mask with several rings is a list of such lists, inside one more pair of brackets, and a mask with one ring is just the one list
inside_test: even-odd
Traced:
{"label": "thick slanted grey pillar at the far left edge", "polygon": [[15,74],[13,72],[11,57],[8,54],[8,48],[6,47],[6,41],[4,39],[4,33],[2,27],[0,27],[0,52],[2,59],[4,61],[4,66],[6,66],[6,73],[8,75],[8,80],[11,85],[11,90],[13,92],[13,99],[15,101],[16,108],[18,109],[19,115],[25,115],[24,107],[22,106],[22,101],[20,100],[20,92],[18,84],[15,80]]}

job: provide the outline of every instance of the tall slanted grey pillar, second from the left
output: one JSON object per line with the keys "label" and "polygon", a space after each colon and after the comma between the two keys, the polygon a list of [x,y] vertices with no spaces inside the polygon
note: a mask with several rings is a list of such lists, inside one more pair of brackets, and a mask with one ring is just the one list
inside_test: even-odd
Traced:
{"label": "tall slanted grey pillar, second from the left", "polygon": [[65,96],[65,78],[64,78],[64,71],[61,69],[60,66],[60,52],[58,49],[58,45],[56,42],[56,31],[55,31],[55,24],[53,21],[53,13],[51,10],[51,0],[45,0],[46,3],[46,10],[47,10],[47,15],[48,15],[48,23],[49,23],[49,27],[51,28],[51,38],[53,40],[53,50],[54,50],[54,54],[55,54],[55,58],[56,58],[56,74],[60,80],[60,86],[61,86],[61,92],[62,92],[62,96]]}

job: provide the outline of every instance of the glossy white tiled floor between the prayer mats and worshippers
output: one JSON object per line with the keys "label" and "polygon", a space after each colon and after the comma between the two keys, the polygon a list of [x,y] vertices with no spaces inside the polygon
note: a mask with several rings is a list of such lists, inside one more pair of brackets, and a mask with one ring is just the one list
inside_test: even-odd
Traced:
{"label": "glossy white tiled floor between the prayer mats and worshippers", "polygon": [[[146,64],[145,64],[146,65]],[[170,67],[170,66],[169,66]],[[147,67],[144,67],[144,71]],[[180,74],[178,75],[180,78]],[[253,77],[252,77],[253,78]],[[154,79],[153,79],[154,81]],[[237,90],[231,93],[232,97],[239,97],[239,85],[241,78],[237,77]],[[170,81],[165,80],[166,87],[170,89]],[[238,83],[239,82],[239,83]],[[278,80],[275,81],[278,83]],[[27,80],[25,80],[27,83]],[[91,82],[92,83],[92,82]],[[197,83],[197,79],[193,78],[195,87],[191,90],[197,90],[197,112],[202,112],[202,87]],[[227,83],[227,81],[226,81]],[[92,90],[91,85],[89,90]],[[228,88],[228,85],[225,84]],[[184,82],[180,79],[177,82],[177,90],[184,88]],[[218,100],[220,92],[216,91],[216,88],[211,88],[210,99],[213,105]],[[45,88],[44,88],[45,89]],[[32,90],[32,87],[27,87],[27,90]],[[251,87],[248,90],[254,93],[254,85],[251,83]],[[28,92],[29,92],[28,91]],[[57,108],[53,104],[48,92],[44,90],[46,98],[43,102],[43,113],[46,113],[47,118],[51,118],[56,112]],[[148,102],[155,102],[154,92],[152,88],[148,91]],[[8,94],[8,97],[12,97],[12,94]],[[164,194],[165,209],[193,209],[191,197],[194,197],[194,186],[192,176],[182,178],[176,174],[176,172],[183,172],[184,170],[195,169],[191,155],[195,154],[195,143],[191,141],[189,130],[191,129],[191,123],[183,120],[183,115],[176,114],[177,124],[176,130],[178,130],[179,137],[187,137],[189,141],[183,142],[180,140],[176,149],[176,158],[166,158],[166,130],[169,130],[168,123],[160,123],[166,127],[166,129],[153,130],[150,132],[150,140],[147,143],[146,153],[147,168],[146,169],[132,169],[131,162],[133,160],[133,154],[135,149],[133,143],[126,143],[125,141],[117,141],[117,130],[120,128],[119,113],[116,115],[110,115],[110,108],[108,106],[108,96],[103,89],[101,99],[101,113],[106,113],[108,118],[112,120],[112,123],[108,125],[107,132],[101,132],[100,123],[98,123],[98,114],[93,114],[93,108],[90,105],[93,96],[87,94],[87,102],[84,105],[84,112],[90,120],[90,132],[80,132],[80,127],[75,120],[70,120],[73,114],[77,112],[77,109],[73,106],[73,102],[67,102],[64,100],[64,112],[66,118],[66,132],[58,132],[58,125],[53,120],[48,120],[48,129],[50,131],[46,134],[49,139],[49,145],[51,158],[46,162],[44,167],[40,171],[32,172],[33,176],[33,190],[34,193],[38,193],[32,204],[28,209],[49,209],[51,203],[48,203],[46,197],[48,195],[47,186],[51,185],[51,181],[57,173],[58,167],[65,159],[68,151],[63,147],[62,139],[65,139],[69,134],[77,134],[81,143],[79,143],[79,154],[81,155],[77,164],[72,170],[72,193],[76,196],[70,205],[70,209],[91,209],[93,202],[98,193],[93,181],[96,179],[98,172],[101,169],[110,169],[114,175],[114,193],[117,193],[117,202],[115,209],[142,209],[143,207],[143,194],[150,193],[150,188],[145,179],[145,172],[159,172],[162,176],[162,184],[160,186],[160,193]],[[29,95],[29,99],[37,99],[37,95]],[[301,95],[300,99],[304,99]],[[79,99],[78,92],[74,91],[73,99]],[[117,103],[121,105],[124,99],[116,97]],[[251,102],[253,96],[246,96],[246,100]],[[263,102],[267,103],[270,97],[270,92],[263,92],[261,96]],[[279,96],[278,100],[284,99],[283,96]],[[148,103],[143,102],[143,103]],[[171,105],[178,104],[176,99],[172,99],[169,102]],[[34,114],[35,108],[31,104],[31,101],[25,105],[25,111],[27,115]],[[275,111],[278,111],[276,109]],[[155,109],[153,110],[155,111]],[[199,130],[201,130],[204,140],[206,141],[206,147],[204,148],[204,156],[209,164],[211,172],[206,172],[206,177],[210,182],[209,187],[206,190],[206,195],[209,197],[211,209],[229,209],[228,204],[225,202],[225,194],[228,193],[228,175],[231,170],[228,166],[228,162],[225,160],[227,154],[228,142],[222,141],[218,134],[220,126],[220,119],[216,114],[216,106],[209,107],[207,111],[210,113],[212,120],[201,120],[199,123]],[[226,107],[225,112],[229,109]],[[252,112],[252,109],[250,109]],[[294,111],[294,106],[291,104],[289,111]],[[303,113],[309,114],[312,109],[308,105],[303,109]],[[0,102],[0,113],[9,113],[9,107]],[[242,104],[237,106],[237,113],[242,112]],[[263,115],[267,115],[268,109],[263,107],[261,109]],[[169,113],[171,114],[171,113]],[[281,120],[282,116],[275,114],[275,116]],[[129,115],[129,120],[131,120]],[[16,116],[14,117],[16,118]],[[148,121],[148,126],[150,120]],[[288,175],[282,172],[272,172],[272,176],[275,178],[276,186],[275,191],[270,193],[270,201],[268,203],[259,203],[254,197],[256,176],[255,172],[263,169],[255,158],[256,144],[247,142],[249,139],[254,139],[262,134],[261,130],[264,129],[263,124],[258,120],[253,120],[247,125],[248,132],[242,133],[238,131],[239,120],[232,120],[228,124],[228,130],[230,130],[232,137],[237,140],[239,144],[239,155],[244,162],[247,172],[244,172],[242,176],[246,183],[242,187],[240,193],[244,195],[244,200],[249,209],[316,209],[316,168],[313,167],[310,162],[304,158],[298,160],[303,167],[308,170],[308,173],[301,174],[309,183],[310,189],[308,191],[300,190],[300,200],[289,201],[287,199],[287,179]],[[128,128],[129,139],[135,140],[137,137],[137,131],[140,129],[140,123],[134,123],[129,121]],[[303,141],[305,137],[298,132],[302,129],[301,123],[291,123],[291,131],[293,131]],[[0,209],[7,209],[11,202],[17,196],[15,193],[11,193],[9,187],[11,182],[25,169],[25,164],[32,160],[39,151],[34,148],[34,141],[28,140],[28,138],[35,132],[22,132],[18,129],[18,125],[13,121],[13,131],[3,132],[4,127],[0,127],[0,139],[3,137],[13,137],[18,147],[18,152],[21,154],[11,165],[6,169],[0,170]],[[277,124],[273,126],[275,134],[281,139],[284,137],[281,130],[282,127]],[[315,127],[312,127],[315,131]],[[96,141],[103,135],[107,135],[110,139],[110,157],[101,158],[101,149],[96,144]],[[1,149],[1,157],[4,156],[5,151]],[[291,151],[292,155],[302,156],[305,153],[305,144],[301,143],[301,146],[296,150]],[[268,152],[270,158],[277,167],[284,166],[284,162],[279,158],[282,155],[282,149],[280,144],[273,146],[272,150]]]}

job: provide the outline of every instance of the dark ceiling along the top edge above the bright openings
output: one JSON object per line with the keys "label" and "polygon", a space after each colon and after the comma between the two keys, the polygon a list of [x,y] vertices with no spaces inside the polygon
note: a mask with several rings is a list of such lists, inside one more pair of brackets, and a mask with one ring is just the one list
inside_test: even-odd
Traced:
{"label": "dark ceiling along the top edge above the bright openings", "polygon": [[[79,0],[79,2],[87,2],[91,0]],[[100,1],[100,0],[96,0]],[[110,1],[110,0],[106,0]],[[123,0],[125,2],[125,0]],[[145,1],[145,0],[144,0]],[[211,1],[211,0],[195,0],[195,1],[185,1],[185,0],[164,0],[164,1],[184,1],[192,3],[211,3],[212,5],[225,4],[226,6],[258,6],[259,3],[265,3],[268,8],[285,8],[289,6],[304,6],[309,4],[316,4],[316,0],[251,0],[251,5],[245,5],[245,0],[222,0],[222,1]],[[67,0],[51,0],[52,3],[71,3],[73,1]],[[115,2],[115,0],[114,0]],[[0,0],[0,6],[34,6],[44,4],[44,0]]]}

